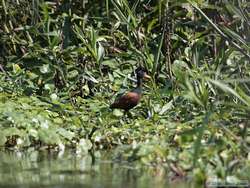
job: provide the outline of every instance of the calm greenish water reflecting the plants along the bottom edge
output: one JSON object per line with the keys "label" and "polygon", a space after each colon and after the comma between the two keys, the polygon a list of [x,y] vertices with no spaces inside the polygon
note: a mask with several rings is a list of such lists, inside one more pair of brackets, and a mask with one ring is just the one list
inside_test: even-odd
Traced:
{"label": "calm greenish water reflecting the plants along the bottom edge", "polygon": [[[103,188],[169,187],[163,169],[146,170],[132,165],[113,163],[108,154],[77,156],[41,151],[0,151],[0,187],[27,188]],[[187,187],[184,182],[173,187]]]}

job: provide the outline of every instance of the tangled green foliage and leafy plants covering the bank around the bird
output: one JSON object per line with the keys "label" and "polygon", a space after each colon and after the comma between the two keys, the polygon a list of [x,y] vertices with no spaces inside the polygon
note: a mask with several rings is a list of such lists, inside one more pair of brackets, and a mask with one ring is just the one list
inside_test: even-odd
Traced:
{"label": "tangled green foliage and leafy plants covering the bank around the bird", "polygon": [[[116,146],[173,175],[250,180],[246,0],[0,4],[0,145]],[[138,66],[132,118],[109,109]],[[228,180],[228,179],[227,179]]]}

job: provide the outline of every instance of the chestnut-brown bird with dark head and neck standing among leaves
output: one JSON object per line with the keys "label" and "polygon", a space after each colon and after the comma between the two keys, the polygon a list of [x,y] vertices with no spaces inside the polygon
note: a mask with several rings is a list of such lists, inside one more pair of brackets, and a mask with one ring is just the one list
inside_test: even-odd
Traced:
{"label": "chestnut-brown bird with dark head and neck standing among leaves", "polygon": [[151,77],[142,67],[138,67],[135,72],[137,78],[137,86],[133,90],[125,92],[121,96],[118,96],[114,103],[110,105],[111,109],[123,109],[125,112],[128,112],[140,102],[142,96],[142,82],[144,79],[150,79]]}

